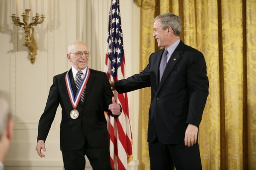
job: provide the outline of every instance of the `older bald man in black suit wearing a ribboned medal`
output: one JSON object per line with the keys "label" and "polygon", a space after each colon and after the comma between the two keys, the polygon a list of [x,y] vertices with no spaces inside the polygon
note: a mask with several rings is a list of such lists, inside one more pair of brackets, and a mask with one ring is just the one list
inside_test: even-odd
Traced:
{"label": "older bald man in black suit wearing a ribboned medal", "polygon": [[121,107],[115,103],[106,73],[87,67],[90,52],[80,41],[68,47],[72,68],[54,76],[44,113],[38,125],[36,150],[45,157],[45,140],[61,104],[60,145],[65,170],[85,170],[85,155],[93,170],[111,170],[107,122],[104,111],[117,117]]}

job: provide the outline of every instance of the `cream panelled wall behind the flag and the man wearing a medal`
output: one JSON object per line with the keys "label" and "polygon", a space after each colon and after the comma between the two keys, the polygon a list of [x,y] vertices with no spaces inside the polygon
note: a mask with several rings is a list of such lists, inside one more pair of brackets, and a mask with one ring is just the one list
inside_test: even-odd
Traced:
{"label": "cream panelled wall behind the flag and the man wearing a medal", "polygon": [[[35,15],[35,0],[27,0]],[[41,14],[41,0],[39,14]],[[10,101],[14,136],[5,157],[6,170],[63,170],[59,144],[59,108],[46,140],[46,158],[35,150],[37,126],[54,75],[71,67],[67,46],[75,40],[87,43],[92,52],[89,67],[104,71],[110,0],[44,0],[45,21],[35,26],[36,61],[28,60],[23,47],[24,31],[13,25],[12,0],[0,0],[0,93]],[[22,0],[14,0],[21,18]],[[133,0],[120,0],[126,57],[126,77],[139,70],[140,9]],[[30,17],[31,21],[31,17]],[[133,132],[133,158],[129,170],[138,169],[139,91],[128,93]],[[90,169],[89,163],[86,164]]]}

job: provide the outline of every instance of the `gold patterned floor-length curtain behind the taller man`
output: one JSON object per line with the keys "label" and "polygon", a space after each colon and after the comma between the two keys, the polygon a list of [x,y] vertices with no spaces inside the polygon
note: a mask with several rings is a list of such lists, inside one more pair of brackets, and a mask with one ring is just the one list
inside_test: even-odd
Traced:
{"label": "gold patterned floor-length curtain behind the taller man", "polygon": [[[199,127],[203,170],[256,170],[256,0],[137,0],[141,69],[157,51],[154,18],[181,17],[180,39],[204,54],[209,96]],[[150,88],[140,91],[142,170],[150,169]]]}

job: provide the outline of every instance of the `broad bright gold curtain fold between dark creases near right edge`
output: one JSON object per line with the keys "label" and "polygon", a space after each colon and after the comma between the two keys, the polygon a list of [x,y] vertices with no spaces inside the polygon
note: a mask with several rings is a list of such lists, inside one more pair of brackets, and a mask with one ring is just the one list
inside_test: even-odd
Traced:
{"label": "broad bright gold curtain fold between dark creases near right edge", "polygon": [[225,168],[243,169],[242,1],[222,0],[222,48],[226,155]]}

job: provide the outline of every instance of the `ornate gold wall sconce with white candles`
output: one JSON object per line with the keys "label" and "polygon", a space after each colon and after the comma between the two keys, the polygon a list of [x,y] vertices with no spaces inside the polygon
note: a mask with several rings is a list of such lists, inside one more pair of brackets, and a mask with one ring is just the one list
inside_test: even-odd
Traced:
{"label": "ornate gold wall sconce with white candles", "polygon": [[[12,4],[12,8],[15,8],[14,6],[14,1]],[[36,0],[36,16],[32,17],[32,22],[29,23],[29,12],[30,9],[25,9],[26,7],[26,0],[23,0],[23,10],[25,10],[25,12],[22,13],[22,19],[23,19],[23,23],[20,22],[19,17],[16,17],[14,14],[14,9],[12,11],[11,14],[11,19],[13,21],[13,24],[19,27],[22,27],[24,29],[25,32],[25,43],[23,44],[23,46],[27,47],[29,50],[29,59],[30,62],[32,64],[35,63],[35,56],[37,55],[36,50],[38,49],[35,38],[34,38],[34,28],[32,26],[36,26],[37,24],[41,24],[42,22],[44,22],[44,14],[42,14],[41,16],[39,16],[38,13],[38,3]],[[43,13],[43,0],[42,0],[42,13]]]}

